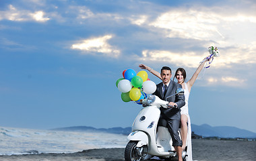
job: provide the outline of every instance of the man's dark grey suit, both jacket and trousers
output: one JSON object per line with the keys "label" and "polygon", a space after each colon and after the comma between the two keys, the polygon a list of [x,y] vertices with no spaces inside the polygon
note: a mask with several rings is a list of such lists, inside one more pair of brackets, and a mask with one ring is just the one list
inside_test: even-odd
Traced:
{"label": "man's dark grey suit, both jacket and trousers", "polygon": [[[164,97],[162,86],[163,83],[159,83],[158,85],[156,85],[156,91],[153,93],[153,95],[157,95],[162,100],[166,100],[166,97],[173,95],[174,93],[176,93],[177,89],[182,88],[181,85],[170,80],[168,90]],[[181,107],[185,105],[185,97],[184,95],[174,95],[172,97],[169,97],[167,101],[177,103],[178,107],[168,109],[161,107],[161,115],[158,121],[158,125],[168,127],[168,131],[170,132],[170,136],[172,137],[172,146],[182,146],[182,141],[179,138],[178,130],[181,121]]]}

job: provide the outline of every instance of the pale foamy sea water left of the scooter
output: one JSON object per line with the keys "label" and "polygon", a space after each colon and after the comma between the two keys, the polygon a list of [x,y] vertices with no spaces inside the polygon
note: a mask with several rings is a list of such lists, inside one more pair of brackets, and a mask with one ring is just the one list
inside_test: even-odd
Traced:
{"label": "pale foamy sea water left of the scooter", "polygon": [[0,155],[125,148],[127,142],[127,136],[122,134],[0,127]]}

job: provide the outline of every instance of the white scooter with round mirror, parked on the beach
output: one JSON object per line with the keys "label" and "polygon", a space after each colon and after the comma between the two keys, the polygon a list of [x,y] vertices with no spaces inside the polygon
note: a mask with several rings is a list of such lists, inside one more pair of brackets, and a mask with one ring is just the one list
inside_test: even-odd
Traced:
{"label": "white scooter with round mirror, parked on the beach", "polygon": [[[177,89],[177,93],[174,95],[183,95],[183,93],[183,89]],[[154,156],[164,160],[177,160],[177,153],[171,146],[172,138],[168,128],[157,125],[160,118],[160,107],[170,107],[168,101],[163,101],[156,95],[150,95],[148,99],[143,99],[142,105],[143,109],[134,120],[132,132],[127,137],[130,141],[125,148],[125,160],[144,160]],[[182,154],[183,160],[186,160],[186,150]]]}

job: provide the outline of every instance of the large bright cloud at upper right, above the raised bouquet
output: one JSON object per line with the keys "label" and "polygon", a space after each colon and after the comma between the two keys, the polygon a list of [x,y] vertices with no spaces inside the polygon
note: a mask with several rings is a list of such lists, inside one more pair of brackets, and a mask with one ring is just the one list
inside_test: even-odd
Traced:
{"label": "large bright cloud at upper right, above the raised bouquet", "polygon": [[162,12],[158,11],[158,16],[147,10],[146,13],[134,13],[128,19],[132,24],[160,33],[165,38],[215,42],[222,47],[255,41],[251,36],[256,34],[256,16],[252,5],[246,6],[246,11],[241,9],[242,7],[237,10],[228,4],[225,5],[168,7]]}

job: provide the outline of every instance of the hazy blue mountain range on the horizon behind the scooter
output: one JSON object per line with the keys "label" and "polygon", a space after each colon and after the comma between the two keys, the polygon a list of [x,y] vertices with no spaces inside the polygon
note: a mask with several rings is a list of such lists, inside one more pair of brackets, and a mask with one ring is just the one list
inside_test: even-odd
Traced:
{"label": "hazy blue mountain range on the horizon behind the scooter", "polygon": [[[230,126],[216,126],[212,127],[207,124],[194,125],[191,124],[191,129],[198,136],[203,137],[219,137],[219,138],[256,138],[256,133],[245,129],[239,129],[237,127]],[[107,132],[107,133],[117,133],[123,135],[129,135],[131,133],[131,127],[113,127],[113,128],[100,128],[96,129],[89,126],[73,126],[73,127],[61,127],[54,130],[61,131],[90,131],[90,132]]]}

